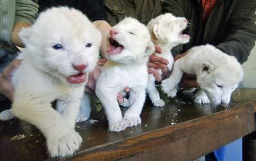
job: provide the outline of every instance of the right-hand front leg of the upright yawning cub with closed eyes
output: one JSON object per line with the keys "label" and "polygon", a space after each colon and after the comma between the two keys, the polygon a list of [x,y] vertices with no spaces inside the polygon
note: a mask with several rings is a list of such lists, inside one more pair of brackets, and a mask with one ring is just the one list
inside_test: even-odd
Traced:
{"label": "right-hand front leg of the upright yawning cub with closed eyes", "polygon": [[146,93],[144,88],[131,89],[129,102],[131,107],[124,114],[124,121],[127,127],[141,124],[140,114],[145,102]]}

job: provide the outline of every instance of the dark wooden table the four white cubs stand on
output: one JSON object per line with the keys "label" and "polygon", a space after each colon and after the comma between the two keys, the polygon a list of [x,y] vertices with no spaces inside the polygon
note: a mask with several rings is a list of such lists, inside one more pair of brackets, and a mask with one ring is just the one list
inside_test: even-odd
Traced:
{"label": "dark wooden table the four white cubs stand on", "polygon": [[[160,108],[147,100],[141,125],[118,133],[108,132],[104,111],[93,103],[91,119],[97,121],[77,123],[83,143],[68,159],[193,160],[255,130],[256,89],[237,89],[230,109],[194,104],[193,96],[165,97]],[[0,151],[0,160],[49,158],[44,136],[17,119],[0,123]]]}

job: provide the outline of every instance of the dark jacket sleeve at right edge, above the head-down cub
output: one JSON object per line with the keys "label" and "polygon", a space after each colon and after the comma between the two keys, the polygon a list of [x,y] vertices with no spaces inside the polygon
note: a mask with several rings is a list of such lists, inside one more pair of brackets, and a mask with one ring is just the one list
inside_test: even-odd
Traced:
{"label": "dark jacket sleeve at right edge, above the head-down cub", "polygon": [[256,1],[239,0],[228,20],[228,31],[221,38],[217,49],[235,56],[244,63],[250,54],[256,40]]}

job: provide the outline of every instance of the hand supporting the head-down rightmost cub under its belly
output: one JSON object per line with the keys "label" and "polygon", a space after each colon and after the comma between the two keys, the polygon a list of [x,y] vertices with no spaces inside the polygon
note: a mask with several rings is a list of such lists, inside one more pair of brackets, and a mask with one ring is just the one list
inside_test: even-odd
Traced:
{"label": "hand supporting the head-down rightmost cub under its belly", "polygon": [[[177,59],[180,59],[181,57],[186,56],[188,54],[187,52],[183,54],[179,54],[174,57],[174,61],[177,61]],[[182,76],[182,79],[180,80],[179,87],[180,88],[193,88],[197,87],[198,83],[196,82],[196,75],[195,74],[187,74],[184,73]]]}

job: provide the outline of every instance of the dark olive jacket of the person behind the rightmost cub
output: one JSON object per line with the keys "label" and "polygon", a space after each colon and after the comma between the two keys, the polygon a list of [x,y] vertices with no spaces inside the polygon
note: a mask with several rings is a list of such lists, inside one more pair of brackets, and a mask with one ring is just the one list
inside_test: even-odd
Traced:
{"label": "dark olive jacket of the person behind the rightmost cub", "polygon": [[209,43],[235,56],[240,63],[248,59],[255,45],[255,11],[255,0],[217,0],[207,22],[203,22],[202,6],[198,0],[164,0],[163,3],[163,13],[186,17],[191,23],[187,29],[191,40],[173,49],[175,54]]}

